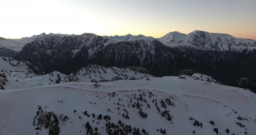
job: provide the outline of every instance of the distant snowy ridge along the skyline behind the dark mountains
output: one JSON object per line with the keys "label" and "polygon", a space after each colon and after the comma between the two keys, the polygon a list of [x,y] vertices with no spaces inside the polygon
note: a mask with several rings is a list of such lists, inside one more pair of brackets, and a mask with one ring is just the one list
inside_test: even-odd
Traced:
{"label": "distant snowy ridge along the skyline behind the dark mountains", "polygon": [[[83,33],[81,35],[95,35],[93,33]],[[79,36],[79,35],[68,35],[68,34],[53,34],[53,33],[42,33],[40,35],[33,35],[32,37],[23,37],[21,39],[5,39],[0,37],[0,49],[8,49],[9,51],[19,52],[21,49],[30,42],[45,36],[58,35],[64,36]],[[151,36],[144,35],[115,35],[115,36],[102,36],[105,39],[115,40],[116,42],[121,41],[147,41],[151,42],[157,40],[168,47],[175,48],[193,48],[200,50],[214,50],[214,51],[234,51],[249,53],[250,51],[256,50],[256,40],[235,38],[229,34],[222,33],[211,33],[200,30],[195,30],[189,34],[180,32],[169,32],[161,38],[157,39]]]}

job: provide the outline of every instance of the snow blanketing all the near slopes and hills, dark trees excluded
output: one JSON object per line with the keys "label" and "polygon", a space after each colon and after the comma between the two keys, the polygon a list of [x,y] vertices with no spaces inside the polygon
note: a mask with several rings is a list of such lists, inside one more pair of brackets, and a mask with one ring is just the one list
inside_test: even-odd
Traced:
{"label": "snow blanketing all the near slopes and hills, dark trees excluded", "polygon": [[[36,75],[28,67],[30,63],[25,61],[2,57],[0,65],[0,83],[4,76],[7,78],[3,85],[6,90],[0,90],[0,135],[48,134],[49,128],[44,126],[42,131],[35,130],[39,122],[39,116],[34,121],[38,106],[42,106],[43,112],[56,115],[59,135],[84,135],[86,122],[93,129],[97,127],[101,135],[106,135],[107,122],[97,119],[99,114],[111,116],[109,121],[115,125],[120,119],[132,129],[139,128],[141,133],[145,129],[150,135],[161,135],[157,129],[165,129],[167,135],[188,135],[193,131],[197,135],[215,135],[214,128],[218,128],[220,134],[226,134],[226,129],[235,135],[255,133],[256,94],[222,85],[205,74],[153,77],[140,67],[89,65],[70,75],[56,71]],[[167,104],[167,98],[172,105]],[[148,114],[147,118],[140,116],[136,106],[132,107],[137,102],[142,112]],[[161,112],[169,111],[171,121],[158,113],[156,102]],[[126,115],[125,110],[129,119],[122,116],[123,113]],[[90,117],[85,116],[84,111]],[[95,118],[92,118],[93,113]],[[39,115],[43,117],[40,112]],[[64,116],[69,117],[67,122],[63,122]],[[191,117],[194,120],[190,120]],[[241,120],[238,117],[242,117]],[[195,120],[203,126],[194,126]],[[215,125],[210,124],[211,120]],[[245,127],[240,127],[237,122]]]}

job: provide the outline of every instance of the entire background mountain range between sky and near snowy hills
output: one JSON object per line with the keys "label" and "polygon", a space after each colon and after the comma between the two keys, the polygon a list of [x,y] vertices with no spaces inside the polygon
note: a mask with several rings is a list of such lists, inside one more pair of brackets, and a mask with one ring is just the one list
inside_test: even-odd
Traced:
{"label": "entire background mountain range between sky and near snowy hills", "polygon": [[0,47],[2,50],[13,49],[11,51],[16,52],[16,60],[29,61],[44,74],[59,71],[68,75],[89,64],[97,64],[142,67],[157,77],[191,69],[209,74],[226,84],[237,84],[244,77],[256,80],[256,41],[228,34],[194,31],[186,35],[170,32],[155,39],[131,34],[43,33],[23,38],[23,41],[25,39],[28,43],[23,44],[20,51],[2,42],[18,39],[2,39]]}

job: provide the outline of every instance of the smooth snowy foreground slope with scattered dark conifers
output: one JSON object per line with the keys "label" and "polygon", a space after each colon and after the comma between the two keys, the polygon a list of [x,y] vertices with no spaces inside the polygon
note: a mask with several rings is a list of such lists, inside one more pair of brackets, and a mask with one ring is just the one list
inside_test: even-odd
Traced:
{"label": "smooth snowy foreground slope with scattered dark conifers", "polygon": [[188,76],[64,83],[0,91],[0,134],[251,135],[255,106],[249,90]]}

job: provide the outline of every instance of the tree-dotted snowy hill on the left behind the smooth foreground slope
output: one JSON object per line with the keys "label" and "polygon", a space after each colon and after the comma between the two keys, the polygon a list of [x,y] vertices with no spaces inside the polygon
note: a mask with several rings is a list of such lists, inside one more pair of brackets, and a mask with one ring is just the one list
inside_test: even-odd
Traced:
{"label": "tree-dotted snowy hill on the left behind the smooth foreground slope", "polygon": [[[0,57],[0,90],[19,89],[53,85],[65,82],[108,82],[113,80],[135,80],[153,77],[141,67],[104,67],[88,65],[79,71],[65,75],[53,71],[49,74],[35,74],[31,64],[16,61],[12,58]],[[38,73],[38,71],[36,72]]]}

